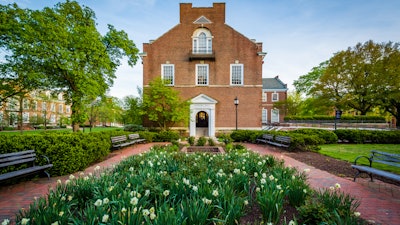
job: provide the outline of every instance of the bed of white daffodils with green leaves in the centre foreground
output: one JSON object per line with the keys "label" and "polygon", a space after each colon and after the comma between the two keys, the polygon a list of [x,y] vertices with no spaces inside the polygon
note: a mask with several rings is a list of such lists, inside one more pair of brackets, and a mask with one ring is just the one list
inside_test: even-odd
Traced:
{"label": "bed of white daffodils with green leaves in the centre foreground", "polygon": [[[16,223],[34,218],[40,224],[236,224],[247,205],[258,204],[252,192],[261,196],[271,186],[285,198],[292,176],[304,178],[272,157],[246,150],[185,154],[155,146],[112,170],[96,168],[58,182],[46,198],[18,213]],[[273,202],[282,208],[281,203]]]}

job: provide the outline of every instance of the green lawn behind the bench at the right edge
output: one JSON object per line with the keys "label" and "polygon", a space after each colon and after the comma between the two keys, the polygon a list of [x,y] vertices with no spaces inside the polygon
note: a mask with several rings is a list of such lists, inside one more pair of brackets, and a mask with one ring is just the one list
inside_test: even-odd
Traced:
{"label": "green lawn behind the bench at the right edge", "polygon": [[[394,144],[329,144],[321,145],[320,154],[330,156],[335,159],[354,163],[357,156],[369,156],[371,150],[400,154],[400,145]],[[362,164],[367,164],[368,160],[362,159]],[[400,168],[385,164],[374,163],[373,167],[400,174]]]}

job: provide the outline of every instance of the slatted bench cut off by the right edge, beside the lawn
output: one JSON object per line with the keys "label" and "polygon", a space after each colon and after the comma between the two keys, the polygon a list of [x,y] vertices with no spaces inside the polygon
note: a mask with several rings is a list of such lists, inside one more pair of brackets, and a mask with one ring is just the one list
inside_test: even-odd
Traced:
{"label": "slatted bench cut off by the right edge, beside the lawn", "polygon": [[[368,159],[368,162],[369,162],[368,166],[357,165],[357,161],[362,158]],[[378,176],[382,176],[382,177],[392,179],[395,181],[400,181],[400,174],[395,174],[395,173],[391,173],[388,171],[373,168],[372,163],[382,163],[382,164],[400,168],[400,154],[393,154],[393,153],[372,150],[369,157],[368,156],[358,156],[354,160],[354,165],[351,165],[351,167],[353,167],[354,169],[357,170],[357,173],[354,176],[353,181],[356,181],[356,178],[361,173],[368,174],[369,177],[371,178],[371,181],[373,181],[372,175],[378,175]]]}

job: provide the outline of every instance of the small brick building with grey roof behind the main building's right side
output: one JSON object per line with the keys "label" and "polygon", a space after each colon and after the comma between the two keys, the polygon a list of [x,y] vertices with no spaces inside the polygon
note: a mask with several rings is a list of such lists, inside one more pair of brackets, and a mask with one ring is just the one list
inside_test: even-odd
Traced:
{"label": "small brick building with grey roof behind the main building's right side", "polygon": [[284,112],[274,107],[274,103],[286,100],[287,84],[283,83],[278,76],[274,78],[263,78],[262,89],[262,123],[273,125],[283,122]]}

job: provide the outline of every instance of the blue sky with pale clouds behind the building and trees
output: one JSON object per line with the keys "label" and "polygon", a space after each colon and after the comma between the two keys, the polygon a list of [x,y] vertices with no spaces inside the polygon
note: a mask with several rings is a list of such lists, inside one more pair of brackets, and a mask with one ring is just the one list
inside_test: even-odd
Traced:
{"label": "blue sky with pale clouds behind the building and trees", "polygon": [[[0,0],[21,8],[53,7],[60,0]],[[279,76],[294,90],[293,81],[334,53],[368,40],[400,42],[400,0],[77,0],[96,13],[97,28],[107,24],[124,30],[140,52],[143,43],[157,39],[179,24],[179,3],[212,7],[225,2],[226,23],[249,39],[263,43],[267,52],[263,78]],[[138,96],[143,73],[124,62],[109,95]]]}

